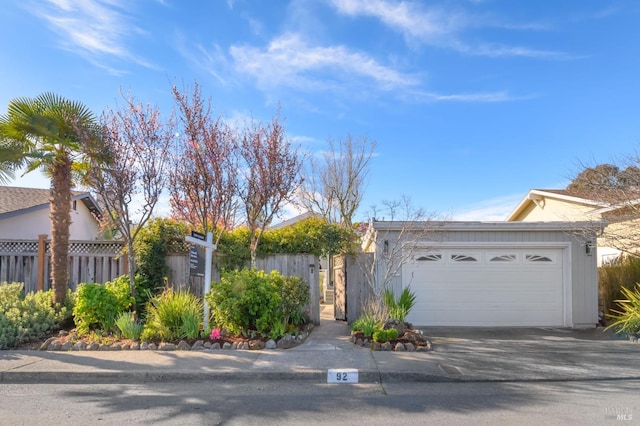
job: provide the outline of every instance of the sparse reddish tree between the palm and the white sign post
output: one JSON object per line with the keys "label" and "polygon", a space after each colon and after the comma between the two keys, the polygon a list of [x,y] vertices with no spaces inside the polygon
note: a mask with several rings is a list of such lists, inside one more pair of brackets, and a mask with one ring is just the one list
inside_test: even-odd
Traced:
{"label": "sparse reddish tree between the palm and the white sign post", "polygon": [[89,184],[125,240],[131,295],[135,298],[133,243],[166,187],[174,122],[173,116],[163,121],[155,107],[136,103],[130,97],[125,101],[119,110],[107,110],[102,116],[110,162],[91,168]]}

